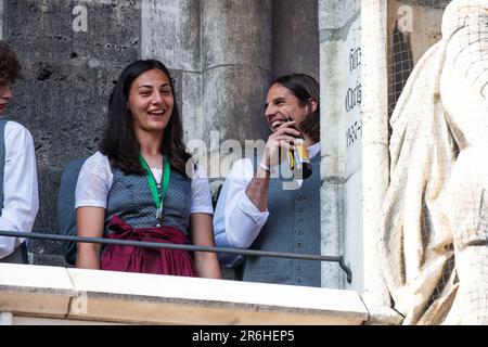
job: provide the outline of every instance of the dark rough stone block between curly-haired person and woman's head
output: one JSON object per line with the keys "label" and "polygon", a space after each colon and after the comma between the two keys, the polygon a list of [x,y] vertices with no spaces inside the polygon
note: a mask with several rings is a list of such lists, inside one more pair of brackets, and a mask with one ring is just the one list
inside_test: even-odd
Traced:
{"label": "dark rough stone block between curly-haired person and woman's head", "polygon": [[9,116],[31,131],[38,165],[61,168],[93,153],[119,70],[92,69],[86,62],[25,61],[26,79],[15,88]]}

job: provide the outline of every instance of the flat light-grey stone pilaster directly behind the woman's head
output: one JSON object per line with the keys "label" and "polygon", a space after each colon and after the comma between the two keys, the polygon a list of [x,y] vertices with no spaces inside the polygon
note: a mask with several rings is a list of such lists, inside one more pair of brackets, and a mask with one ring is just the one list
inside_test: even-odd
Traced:
{"label": "flat light-grey stone pilaster directly behind the woman's head", "polygon": [[187,143],[204,128],[200,11],[198,0],[141,1],[141,57],[170,69]]}

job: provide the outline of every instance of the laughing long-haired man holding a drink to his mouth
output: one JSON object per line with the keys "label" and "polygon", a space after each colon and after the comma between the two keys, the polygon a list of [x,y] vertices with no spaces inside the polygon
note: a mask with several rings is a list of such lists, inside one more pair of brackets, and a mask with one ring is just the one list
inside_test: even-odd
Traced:
{"label": "laughing long-haired man holding a drink to his mouth", "polygon": [[[320,254],[319,102],[319,83],[308,75],[282,76],[271,83],[265,118],[272,133],[264,154],[236,162],[222,185],[214,218],[217,246]],[[312,168],[307,179],[294,177],[286,158],[300,136]],[[219,257],[228,267],[243,260]],[[246,257],[243,266],[244,281],[321,285],[318,261]]]}

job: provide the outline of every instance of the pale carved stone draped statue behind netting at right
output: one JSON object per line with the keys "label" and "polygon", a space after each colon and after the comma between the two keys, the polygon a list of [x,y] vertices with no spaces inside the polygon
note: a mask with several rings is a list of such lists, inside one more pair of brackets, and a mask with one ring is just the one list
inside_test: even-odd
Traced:
{"label": "pale carved stone draped statue behind netting at right", "polygon": [[380,257],[403,324],[488,324],[488,0],[453,0],[390,119]]}

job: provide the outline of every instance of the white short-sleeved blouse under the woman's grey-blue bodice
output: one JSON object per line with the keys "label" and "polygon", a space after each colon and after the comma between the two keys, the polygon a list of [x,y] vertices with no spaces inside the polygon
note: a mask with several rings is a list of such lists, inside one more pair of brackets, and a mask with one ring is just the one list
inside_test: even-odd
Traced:
{"label": "white short-sleeved blouse under the woman's grey-blue bodice", "polygon": [[[160,181],[163,170],[151,168],[157,182]],[[75,193],[75,208],[102,207],[106,208],[108,192],[111,191],[114,175],[108,158],[97,152],[85,162],[78,176]],[[147,188],[149,189],[149,188]],[[191,214],[214,214],[211,207],[210,184],[203,168],[198,165],[192,178],[192,206]]]}

